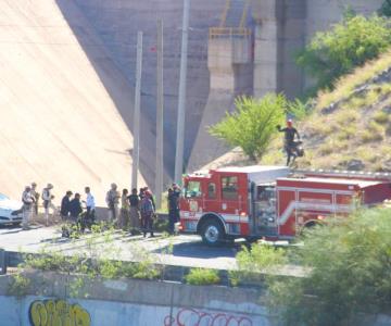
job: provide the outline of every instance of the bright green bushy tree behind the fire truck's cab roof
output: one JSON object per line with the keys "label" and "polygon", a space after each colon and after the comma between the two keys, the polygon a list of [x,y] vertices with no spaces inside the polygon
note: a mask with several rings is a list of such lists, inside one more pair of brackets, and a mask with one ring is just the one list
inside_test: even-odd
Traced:
{"label": "bright green bushy tree behind the fire truck's cab roof", "polygon": [[236,111],[210,128],[210,133],[230,146],[239,146],[252,160],[261,159],[276,125],[281,124],[288,101],[282,95],[266,95],[262,99],[240,97],[235,101]]}

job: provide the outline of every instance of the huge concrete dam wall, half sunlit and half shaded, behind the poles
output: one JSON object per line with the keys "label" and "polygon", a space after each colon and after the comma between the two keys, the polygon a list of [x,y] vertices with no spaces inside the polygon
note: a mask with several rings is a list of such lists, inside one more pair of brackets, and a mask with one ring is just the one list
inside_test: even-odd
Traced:
{"label": "huge concrete dam wall, half sunlit and half shaded, behind the poles", "polygon": [[[228,148],[207,134],[238,95],[300,93],[307,84],[292,51],[338,22],[345,5],[369,14],[381,0],[252,1],[245,40],[211,38],[226,0],[191,1],[185,163],[195,170]],[[245,0],[232,0],[236,27]],[[103,202],[112,181],[129,187],[136,35],[144,33],[140,183],[154,188],[156,20],[164,23],[165,183],[174,171],[180,61],[180,0],[0,2],[0,192],[54,184],[58,198],[89,185]]]}

